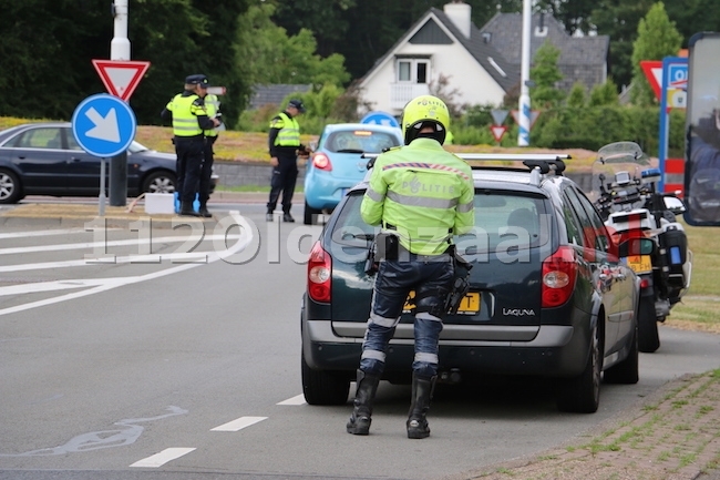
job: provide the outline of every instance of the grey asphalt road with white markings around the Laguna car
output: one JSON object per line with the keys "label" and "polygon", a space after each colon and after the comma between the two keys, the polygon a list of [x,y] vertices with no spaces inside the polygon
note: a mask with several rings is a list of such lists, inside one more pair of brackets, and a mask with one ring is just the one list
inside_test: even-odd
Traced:
{"label": "grey asphalt road with white markings around the Laguna car", "polygon": [[[223,219],[235,207],[253,239]],[[383,382],[371,435],[349,436],[350,402],[301,398],[302,258],[321,227],[214,208],[202,234],[2,227],[0,478],[439,479],[566,443],[718,367],[719,336],[662,328],[640,381],[604,386],[597,413],[486,380],[440,388],[431,438],[412,441],[409,387]]]}

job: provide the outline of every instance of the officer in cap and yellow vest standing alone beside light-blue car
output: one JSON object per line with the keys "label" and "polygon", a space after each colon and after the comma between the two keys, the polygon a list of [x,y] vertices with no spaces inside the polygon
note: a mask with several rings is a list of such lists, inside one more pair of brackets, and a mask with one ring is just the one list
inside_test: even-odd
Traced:
{"label": "officer in cap and yellow vest standing alone beside light-blue car", "polygon": [[298,154],[307,155],[309,150],[300,143],[300,125],[296,118],[305,113],[299,100],[290,100],[287,109],[270,121],[268,145],[272,178],[270,180],[270,198],[267,203],[265,219],[272,222],[272,211],[282,192],[282,222],[295,222],[290,215],[295,182],[298,178]]}

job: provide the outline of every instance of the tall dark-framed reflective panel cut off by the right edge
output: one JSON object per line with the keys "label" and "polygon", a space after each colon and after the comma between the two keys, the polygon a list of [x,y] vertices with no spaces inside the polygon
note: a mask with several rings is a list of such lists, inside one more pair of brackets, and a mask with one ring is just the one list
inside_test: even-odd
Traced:
{"label": "tall dark-framed reflective panel cut off by the right edge", "polygon": [[685,221],[720,225],[720,33],[689,42]]}

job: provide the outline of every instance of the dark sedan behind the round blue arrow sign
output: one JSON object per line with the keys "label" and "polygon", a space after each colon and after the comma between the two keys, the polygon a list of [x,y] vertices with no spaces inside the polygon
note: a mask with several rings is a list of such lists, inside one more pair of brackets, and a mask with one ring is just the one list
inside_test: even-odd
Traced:
{"label": "dark sedan behind the round blue arrow sign", "polygon": [[[132,142],[127,195],[173,193],[175,160],[174,154]],[[78,145],[70,123],[28,123],[0,132],[0,204],[17,203],[25,195],[97,196],[100,168],[101,159]]]}

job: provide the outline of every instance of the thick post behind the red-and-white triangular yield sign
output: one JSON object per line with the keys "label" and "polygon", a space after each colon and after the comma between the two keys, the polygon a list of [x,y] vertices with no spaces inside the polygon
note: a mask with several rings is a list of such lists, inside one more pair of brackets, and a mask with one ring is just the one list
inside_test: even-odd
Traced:
{"label": "thick post behind the red-and-white triangular yield sign", "polygon": [[[127,39],[128,0],[114,0],[114,37],[110,42],[110,60],[130,60]],[[104,180],[104,176],[103,176]],[[110,162],[110,204],[125,206],[127,203],[127,152],[121,152]]]}

